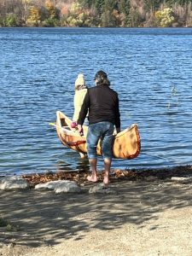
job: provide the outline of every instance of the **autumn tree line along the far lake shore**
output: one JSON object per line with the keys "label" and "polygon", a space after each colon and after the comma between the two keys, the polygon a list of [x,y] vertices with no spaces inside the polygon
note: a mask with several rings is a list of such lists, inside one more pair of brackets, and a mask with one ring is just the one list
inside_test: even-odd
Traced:
{"label": "autumn tree line along the far lake shore", "polygon": [[0,0],[0,26],[192,26],[192,0]]}

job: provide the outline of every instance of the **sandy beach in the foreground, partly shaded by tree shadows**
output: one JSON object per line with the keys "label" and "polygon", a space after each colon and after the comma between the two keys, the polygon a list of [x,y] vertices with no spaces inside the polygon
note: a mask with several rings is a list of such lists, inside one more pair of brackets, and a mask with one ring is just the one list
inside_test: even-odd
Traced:
{"label": "sandy beach in the foreground, partly shaded by tree shadows", "polygon": [[109,194],[0,191],[0,255],[192,255],[191,166],[113,179]]}

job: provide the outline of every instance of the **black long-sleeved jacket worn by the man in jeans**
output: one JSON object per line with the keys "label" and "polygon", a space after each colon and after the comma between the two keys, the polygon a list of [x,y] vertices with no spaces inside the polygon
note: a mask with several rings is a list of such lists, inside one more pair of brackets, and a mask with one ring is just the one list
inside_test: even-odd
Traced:
{"label": "black long-sleeved jacket worn by the man in jeans", "polygon": [[89,124],[108,121],[120,128],[119,97],[108,85],[97,85],[87,90],[79,113],[78,124],[83,125],[89,110]]}

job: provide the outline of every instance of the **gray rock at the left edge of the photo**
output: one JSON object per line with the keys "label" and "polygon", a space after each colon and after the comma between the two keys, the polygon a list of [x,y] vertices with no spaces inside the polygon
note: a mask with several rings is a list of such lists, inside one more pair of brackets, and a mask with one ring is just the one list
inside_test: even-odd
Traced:
{"label": "gray rock at the left edge of the photo", "polygon": [[29,189],[29,183],[21,176],[8,176],[0,178],[0,189]]}

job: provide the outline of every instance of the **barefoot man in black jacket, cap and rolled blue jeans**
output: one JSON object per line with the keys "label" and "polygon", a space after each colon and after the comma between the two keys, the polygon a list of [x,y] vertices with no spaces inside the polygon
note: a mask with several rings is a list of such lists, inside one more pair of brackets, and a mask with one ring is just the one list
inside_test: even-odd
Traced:
{"label": "barefoot man in black jacket, cap and rolled blue jeans", "polygon": [[97,182],[96,145],[102,138],[102,156],[105,174],[104,185],[108,186],[109,172],[112,162],[112,142],[114,125],[120,131],[119,97],[117,92],[109,88],[107,73],[98,71],[95,76],[96,86],[88,89],[84,103],[79,113],[78,129],[83,134],[83,123],[89,111],[89,129],[87,134],[87,151],[92,174],[87,177],[91,182]]}

